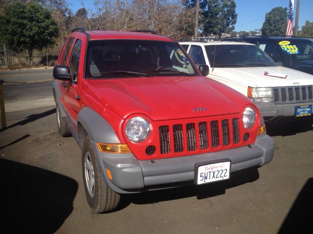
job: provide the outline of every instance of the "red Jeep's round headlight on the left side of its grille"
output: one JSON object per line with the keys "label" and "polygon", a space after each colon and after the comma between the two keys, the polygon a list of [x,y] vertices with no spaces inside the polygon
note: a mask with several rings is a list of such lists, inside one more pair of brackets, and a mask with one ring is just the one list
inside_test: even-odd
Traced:
{"label": "red Jeep's round headlight on the left side of its grille", "polygon": [[134,142],[145,140],[150,133],[150,123],[143,117],[131,118],[126,124],[126,136]]}

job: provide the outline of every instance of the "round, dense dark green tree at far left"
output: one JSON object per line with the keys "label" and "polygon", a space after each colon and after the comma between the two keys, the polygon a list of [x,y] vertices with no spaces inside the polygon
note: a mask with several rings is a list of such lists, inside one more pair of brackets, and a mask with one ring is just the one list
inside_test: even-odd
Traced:
{"label": "round, dense dark green tree at far left", "polygon": [[36,2],[10,4],[0,16],[1,40],[17,53],[27,50],[30,61],[34,49],[52,47],[57,36],[50,11]]}

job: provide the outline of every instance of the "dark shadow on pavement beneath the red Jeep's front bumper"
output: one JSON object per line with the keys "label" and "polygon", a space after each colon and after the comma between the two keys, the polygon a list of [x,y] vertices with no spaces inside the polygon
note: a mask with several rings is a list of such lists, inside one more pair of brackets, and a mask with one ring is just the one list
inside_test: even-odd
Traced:
{"label": "dark shadow on pavement beneath the red Jeep's front bumper", "polygon": [[126,208],[131,203],[152,204],[161,201],[176,200],[196,196],[198,199],[225,194],[226,189],[256,181],[259,178],[257,169],[246,171],[232,176],[227,181],[201,186],[186,186],[174,189],[156,190],[141,194],[124,195],[121,197],[121,205],[118,210]]}

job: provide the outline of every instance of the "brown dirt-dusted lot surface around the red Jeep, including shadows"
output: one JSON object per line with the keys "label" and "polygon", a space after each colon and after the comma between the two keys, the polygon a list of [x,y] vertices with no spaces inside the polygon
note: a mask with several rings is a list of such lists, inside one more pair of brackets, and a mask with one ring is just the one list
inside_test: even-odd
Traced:
{"label": "brown dirt-dusted lot surface around the red Jeep, including shadows", "polygon": [[273,160],[229,181],[122,197],[93,214],[81,150],[57,132],[55,108],[7,114],[0,130],[1,233],[312,233],[313,128],[276,126]]}

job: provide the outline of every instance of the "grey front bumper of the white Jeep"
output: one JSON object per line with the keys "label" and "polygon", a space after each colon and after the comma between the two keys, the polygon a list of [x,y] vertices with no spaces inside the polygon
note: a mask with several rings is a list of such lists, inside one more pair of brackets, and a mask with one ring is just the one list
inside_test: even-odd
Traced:
{"label": "grey front bumper of the white Jeep", "polygon": [[263,117],[295,117],[297,106],[313,105],[313,102],[274,104],[273,102],[255,103]]}

